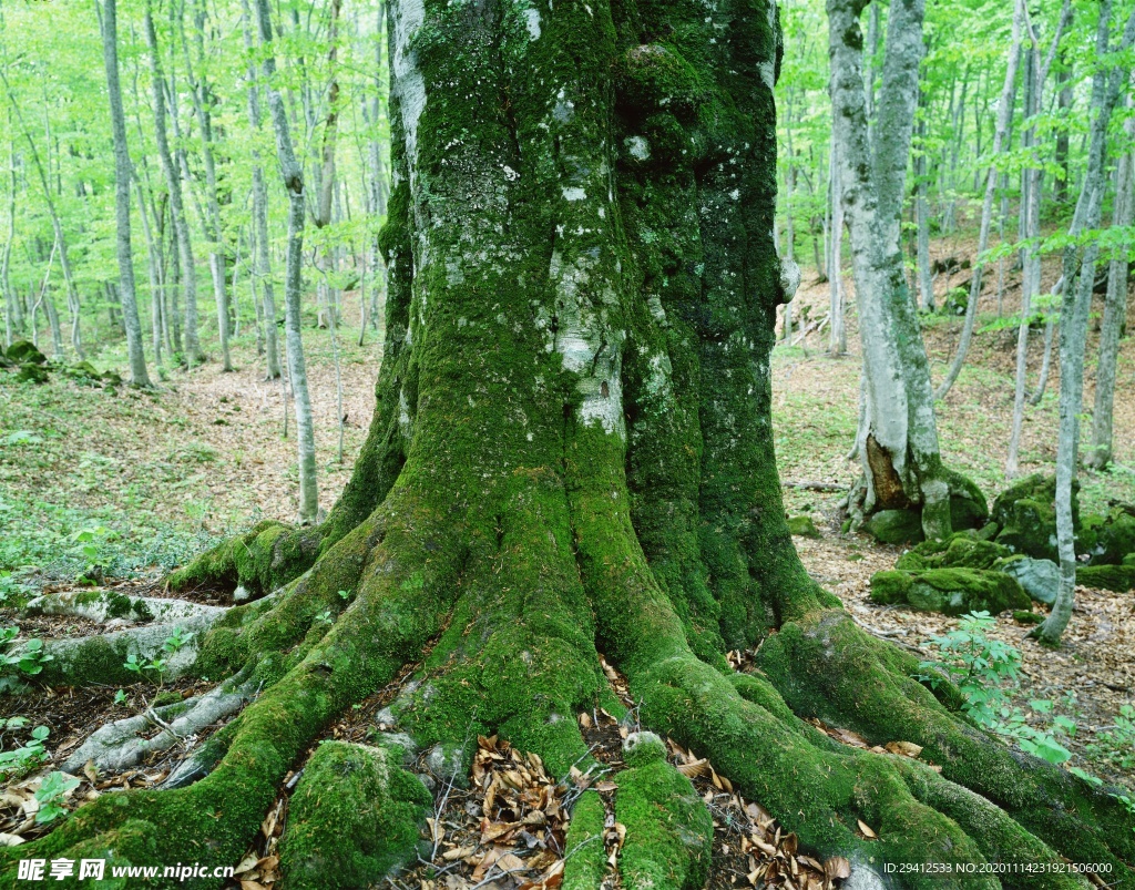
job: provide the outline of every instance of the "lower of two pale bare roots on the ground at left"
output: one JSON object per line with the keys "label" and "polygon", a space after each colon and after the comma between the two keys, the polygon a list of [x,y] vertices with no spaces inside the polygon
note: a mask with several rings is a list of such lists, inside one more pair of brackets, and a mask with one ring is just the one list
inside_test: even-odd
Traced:
{"label": "lower of two pale bare roots on the ground at left", "polygon": [[[193,736],[243,708],[254,691],[253,681],[228,681],[185,702],[148,708],[143,714],[116,720],[84,741],[67,758],[62,769],[77,773],[87,761],[93,761],[100,771],[121,772],[141,763],[153,752],[167,750],[178,744],[188,747]],[[160,731],[152,734],[154,729]]]}

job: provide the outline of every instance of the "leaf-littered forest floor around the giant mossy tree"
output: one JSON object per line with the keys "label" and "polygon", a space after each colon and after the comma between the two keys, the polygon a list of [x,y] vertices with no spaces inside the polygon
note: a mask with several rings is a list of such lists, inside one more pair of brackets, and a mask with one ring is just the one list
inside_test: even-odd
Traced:
{"label": "leaf-littered forest floor around the giant mossy tree", "polygon": [[[943,240],[935,242],[934,252],[940,258],[968,257],[972,245],[962,240],[953,243]],[[968,275],[960,270],[949,276],[951,280],[944,280],[943,275],[938,283],[940,299],[949,287],[968,280]],[[987,293],[995,285],[995,275],[989,278],[992,280],[986,286]],[[851,291],[850,276],[844,286]],[[1009,275],[1004,305],[1015,305],[1018,294],[1019,280]],[[338,344],[345,418],[342,459],[330,338],[328,331],[313,326],[304,329],[320,502],[325,507],[334,503],[345,485],[365,436],[381,353],[380,339],[373,330],[367,333],[363,346],[358,345],[359,330],[351,321],[358,314],[350,295],[346,303],[346,321],[339,329]],[[797,300],[798,312],[802,305],[809,307],[808,317],[813,320],[822,318],[827,307],[827,285],[812,280],[808,269]],[[1012,411],[1016,328],[987,329],[995,328],[994,297],[987,296],[981,310],[967,366],[940,405],[939,430],[947,463],[974,478],[992,501],[1006,484],[1003,462]],[[960,326],[958,317],[924,319],[935,377],[941,376],[952,358]],[[208,329],[202,331],[202,339],[211,342]],[[1037,334],[1031,338],[1031,385],[1041,363],[1042,339]],[[1094,350],[1093,335],[1090,354],[1094,355]],[[859,393],[854,307],[848,318],[848,354],[831,358],[826,351],[825,328],[774,352],[777,457],[787,481],[823,482],[846,489],[858,472],[857,464],[846,459],[855,437]],[[283,385],[264,380],[251,335],[234,338],[234,359],[237,370],[232,373],[221,373],[216,361],[188,372],[163,372],[162,383],[153,392],[87,387],[60,373],[53,373],[41,386],[0,379],[0,624],[17,623],[12,610],[3,607],[6,598],[37,593],[45,586],[72,587],[79,578],[153,595],[160,590],[157,581],[165,572],[222,536],[260,519],[294,519],[297,479],[294,425],[288,418],[291,408],[285,404]],[[115,347],[93,361],[100,370],[125,367],[121,352]],[[1102,509],[1109,498],[1135,502],[1135,338],[1123,343],[1119,379],[1116,461],[1108,472],[1082,472],[1081,499],[1085,512]],[[1093,385],[1090,367],[1086,408],[1092,404]],[[1022,442],[1025,472],[1053,469],[1058,389],[1059,368],[1053,355],[1046,393],[1026,413]],[[285,425],[292,427],[287,438]],[[818,539],[796,539],[808,571],[835,593],[869,632],[911,649],[922,658],[934,658],[933,638],[957,627],[956,619],[877,606],[868,599],[871,576],[892,568],[901,548],[878,545],[864,535],[842,535],[838,492],[785,488],[784,496],[789,513],[810,513],[822,530]],[[1043,611],[1042,606],[1037,608]],[[24,637],[86,631],[83,622],[73,619],[19,623]],[[1049,725],[1052,715],[1041,713],[1029,703],[1035,699],[1056,703],[1054,713],[1075,721],[1077,727],[1074,737],[1061,737],[1074,753],[1069,765],[1135,787],[1135,772],[1121,769],[1116,759],[1123,752],[1110,750],[1102,734],[1115,725],[1120,707],[1135,703],[1135,594],[1078,588],[1076,611],[1065,645],[1058,652],[1043,649],[1027,639],[1027,630],[1006,615],[991,632],[993,638],[1022,654],[1020,686],[1014,692],[1014,703],[1040,727]],[[613,674],[612,682],[617,691],[617,678]],[[171,692],[187,696],[200,690],[186,682],[163,691],[167,696]],[[125,690],[125,698],[119,696],[117,702],[116,694],[116,689],[109,688],[44,691],[32,687],[18,696],[0,697],[0,719],[19,714],[27,716],[31,725],[48,725],[49,750],[58,746],[66,753],[101,723],[144,708],[154,690],[138,685]],[[361,722],[389,695],[392,690],[377,694],[329,732],[354,738]],[[594,714],[591,722],[595,728],[588,730],[600,732],[603,715]],[[605,752],[617,767],[619,738],[613,732],[608,729],[611,738],[606,742],[597,740],[597,750]],[[1126,754],[1132,756],[1129,750]],[[505,761],[510,756],[504,752]],[[683,752],[674,752],[674,756],[679,763],[683,758],[696,759]],[[160,781],[168,769],[169,757],[124,775],[89,776],[89,782],[76,794],[82,797],[124,783],[151,784]],[[700,767],[691,772],[698,774],[699,792],[709,799],[724,795],[722,807],[748,814],[758,828],[765,824],[765,814],[757,804],[739,800],[723,787],[728,786],[728,779],[718,782],[716,774]],[[732,818],[724,818],[721,824],[732,825]],[[12,824],[5,822],[0,809],[0,832],[12,831]],[[460,826],[453,830],[460,837]],[[472,829],[466,826],[466,831]],[[772,839],[773,826],[765,825],[760,831],[767,831]],[[272,836],[274,830],[266,822],[264,839],[258,849],[250,851],[257,857],[252,862],[259,858],[270,863],[275,849]],[[278,830],[275,836],[278,837]],[[453,849],[455,842],[451,838],[443,849]],[[617,845],[617,839],[612,842]],[[751,851],[741,849],[739,854],[735,845],[731,850],[731,843],[729,838],[718,838],[715,862],[724,863],[722,874],[735,876],[738,868],[746,867]],[[738,855],[741,858],[737,862],[730,859]],[[268,866],[261,863],[258,867],[259,880],[270,884]],[[245,874],[249,880],[253,871],[250,866]],[[421,880],[424,887],[427,879]],[[436,884],[447,885],[444,881]],[[419,883],[412,881],[405,887],[417,888]]]}

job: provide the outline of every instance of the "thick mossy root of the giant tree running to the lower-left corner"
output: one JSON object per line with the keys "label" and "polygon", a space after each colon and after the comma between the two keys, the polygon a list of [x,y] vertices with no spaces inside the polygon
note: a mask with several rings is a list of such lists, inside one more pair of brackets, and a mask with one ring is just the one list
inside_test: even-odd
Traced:
{"label": "thick mossy root of the giant tree running to the lower-left corner", "polygon": [[[285,655],[259,653],[250,658],[251,680],[275,682],[226,728],[216,769],[184,788],[103,795],[47,837],[18,851],[0,850],[0,888],[18,885],[16,859],[36,856],[135,865],[235,863],[284,774],[319,730],[419,655],[452,607],[464,553],[461,526],[420,506],[405,492],[378,512],[382,538],[371,541],[368,557],[352,569],[360,579],[358,593],[338,621],[309,633],[302,657],[292,658],[292,664]],[[356,529],[363,536],[367,531]],[[354,563],[351,538],[329,552],[326,572],[335,576],[333,566]],[[255,605],[247,614],[255,615]],[[276,608],[286,611],[287,605],[285,596]],[[220,880],[193,883],[216,887]],[[152,884],[191,885],[171,878]],[[72,879],[61,885],[81,884]]]}

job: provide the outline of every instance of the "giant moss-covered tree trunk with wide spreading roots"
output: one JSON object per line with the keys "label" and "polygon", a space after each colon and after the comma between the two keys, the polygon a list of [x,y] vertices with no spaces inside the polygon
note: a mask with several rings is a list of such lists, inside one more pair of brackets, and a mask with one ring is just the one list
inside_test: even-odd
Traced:
{"label": "giant moss-covered tree trunk with wide spreading roots", "polygon": [[[603,652],[646,725],[711,757],[809,851],[867,872],[1062,854],[1129,880],[1118,801],[969,725],[952,687],[913,679],[916,661],[859,631],[793,549],[770,414],[775,7],[402,0],[389,16],[369,438],[323,523],[259,527],[170,579],[277,590],[230,610],[195,663],[263,691],[196,756],[204,778],[104,795],[0,856],[236,862],[320,730],[432,644],[392,705],[420,746],[498,733],[566,773],[588,756],[574,715],[609,700]],[[735,647],[759,670],[731,671]],[[922,745],[941,774],[802,717]],[[651,769],[657,791],[672,770]],[[667,806],[637,787],[617,812]],[[698,873],[631,858],[628,887]],[[592,865],[570,859],[565,885],[597,888]]]}

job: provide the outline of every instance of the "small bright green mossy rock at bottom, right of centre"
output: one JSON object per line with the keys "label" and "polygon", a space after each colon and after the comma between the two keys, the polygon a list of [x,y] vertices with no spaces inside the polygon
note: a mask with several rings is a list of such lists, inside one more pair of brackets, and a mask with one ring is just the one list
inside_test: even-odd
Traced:
{"label": "small bright green mossy rock at bottom, right of centre", "polygon": [[615,796],[615,818],[627,826],[619,857],[623,885],[634,890],[703,887],[713,853],[709,811],[690,780],[666,763],[661,741],[646,739],[630,746],[630,757],[641,765],[619,774]]}

